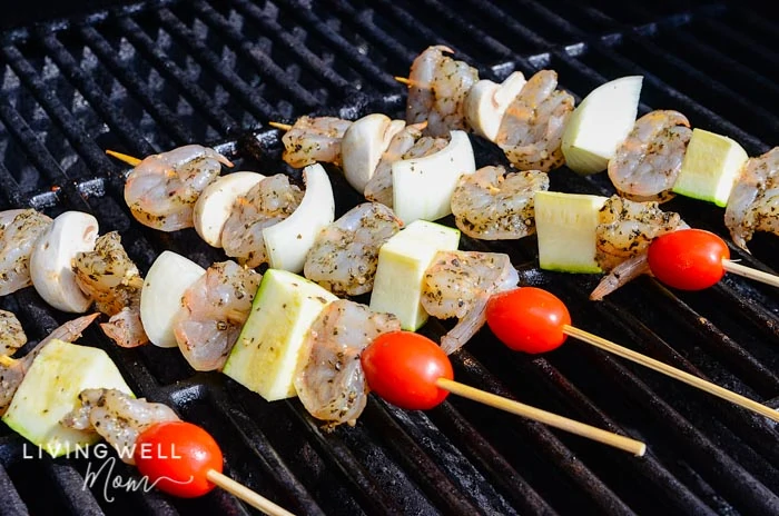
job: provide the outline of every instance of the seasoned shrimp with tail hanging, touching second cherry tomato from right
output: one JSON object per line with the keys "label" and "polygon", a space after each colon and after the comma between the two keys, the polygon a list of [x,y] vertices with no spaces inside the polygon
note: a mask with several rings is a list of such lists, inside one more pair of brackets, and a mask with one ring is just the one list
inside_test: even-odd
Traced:
{"label": "seasoned shrimp with tail hanging, touching second cherry tomato from right", "polygon": [[441,338],[443,350],[448,355],[467,343],[486,320],[490,297],[516,287],[519,281],[507,255],[438,251],[422,279],[422,306],[433,317],[460,319]]}

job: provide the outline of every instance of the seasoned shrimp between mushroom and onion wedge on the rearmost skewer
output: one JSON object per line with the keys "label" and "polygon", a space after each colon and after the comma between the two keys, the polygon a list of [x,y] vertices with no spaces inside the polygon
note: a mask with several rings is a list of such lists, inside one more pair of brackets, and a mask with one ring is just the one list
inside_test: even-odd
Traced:
{"label": "seasoned shrimp between mushroom and onion wedge on the rearmost skewer", "polygon": [[561,146],[574,99],[556,87],[558,72],[539,71],[525,83],[501,120],[495,143],[519,170],[549,172],[565,162]]}

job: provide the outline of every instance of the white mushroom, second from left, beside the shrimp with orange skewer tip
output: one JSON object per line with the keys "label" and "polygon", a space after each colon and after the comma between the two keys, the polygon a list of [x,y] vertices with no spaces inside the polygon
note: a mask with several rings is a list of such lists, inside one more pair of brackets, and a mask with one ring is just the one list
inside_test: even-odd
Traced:
{"label": "white mushroom, second from left, beside the shrimp with orange skewer tip", "polygon": [[233,172],[219,177],[203,190],[195,202],[195,231],[206,244],[221,247],[221,228],[238,197],[257,185],[265,176],[257,172]]}

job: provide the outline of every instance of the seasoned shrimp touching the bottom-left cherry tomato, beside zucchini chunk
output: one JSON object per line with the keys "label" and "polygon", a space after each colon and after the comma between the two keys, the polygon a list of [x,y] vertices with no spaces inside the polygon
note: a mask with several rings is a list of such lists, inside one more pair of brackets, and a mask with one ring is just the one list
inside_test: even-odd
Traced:
{"label": "seasoned shrimp touching the bottom-left cherry tomato, beside zucchini chunk", "polygon": [[114,446],[126,464],[135,464],[136,440],[147,428],[157,423],[180,420],[167,405],[136,399],[117,389],[83,389],[78,398],[81,406],[66,414],[61,424],[77,430],[96,431]]}

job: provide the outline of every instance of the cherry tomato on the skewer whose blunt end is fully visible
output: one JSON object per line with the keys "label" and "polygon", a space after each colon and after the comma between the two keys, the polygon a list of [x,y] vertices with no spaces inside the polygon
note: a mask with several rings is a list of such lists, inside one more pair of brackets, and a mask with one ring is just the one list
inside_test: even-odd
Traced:
{"label": "cherry tomato on the skewer whose blunt end is fully visible", "polygon": [[435,381],[454,378],[452,363],[441,346],[412,331],[379,335],[359,360],[371,390],[408,410],[438,405],[448,391]]}

